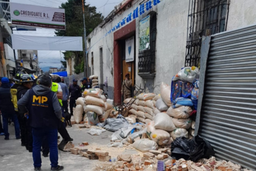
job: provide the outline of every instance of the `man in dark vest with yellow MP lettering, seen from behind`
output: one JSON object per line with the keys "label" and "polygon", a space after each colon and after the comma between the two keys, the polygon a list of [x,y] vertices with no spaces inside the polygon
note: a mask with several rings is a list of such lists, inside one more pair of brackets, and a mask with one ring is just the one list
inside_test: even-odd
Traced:
{"label": "man in dark vest with yellow MP lettering, seen from behind", "polygon": [[62,170],[58,165],[58,124],[64,120],[57,95],[51,91],[52,81],[42,75],[39,85],[29,90],[19,101],[18,109],[29,118],[33,134],[34,170],[41,169],[40,149],[42,139],[47,136],[50,147],[51,170]]}

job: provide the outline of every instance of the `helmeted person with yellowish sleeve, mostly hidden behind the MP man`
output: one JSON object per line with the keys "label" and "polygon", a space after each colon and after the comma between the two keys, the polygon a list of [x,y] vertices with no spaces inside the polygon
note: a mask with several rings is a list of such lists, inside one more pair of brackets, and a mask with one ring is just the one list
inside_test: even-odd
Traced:
{"label": "helmeted person with yellowish sleeve, mostly hidden behind the MP man", "polygon": [[[20,117],[19,113],[18,113],[18,100],[17,100],[17,88],[20,86],[20,83],[18,82],[20,80],[20,76],[22,76],[23,74],[25,74],[24,72],[18,72],[16,73],[14,80],[15,80],[15,84],[11,87],[11,96],[12,96],[12,103],[14,105],[14,110],[15,113],[17,115],[18,118],[18,123],[19,123],[19,129],[22,130],[22,117]],[[22,141],[22,146],[26,146],[26,143],[24,141],[24,134],[22,131],[20,131],[20,135],[21,135],[21,141]]]}

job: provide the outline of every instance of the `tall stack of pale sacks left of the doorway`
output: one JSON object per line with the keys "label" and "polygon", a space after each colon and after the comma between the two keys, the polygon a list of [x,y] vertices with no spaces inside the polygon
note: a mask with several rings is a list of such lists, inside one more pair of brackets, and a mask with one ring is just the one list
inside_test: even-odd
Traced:
{"label": "tall stack of pale sacks left of the doorway", "polygon": [[83,92],[84,104],[86,105],[84,106],[84,113],[86,113],[84,120],[88,120],[91,125],[96,125],[99,120],[104,122],[107,116],[104,112],[106,109],[112,109],[112,106],[105,105],[106,102],[101,98],[102,92],[100,89],[86,89]]}

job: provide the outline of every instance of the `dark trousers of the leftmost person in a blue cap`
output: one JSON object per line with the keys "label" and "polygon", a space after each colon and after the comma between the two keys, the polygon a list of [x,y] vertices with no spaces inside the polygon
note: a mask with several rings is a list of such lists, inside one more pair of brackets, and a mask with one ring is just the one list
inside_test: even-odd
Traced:
{"label": "dark trousers of the leftmost person in a blue cap", "polygon": [[18,117],[17,117],[16,113],[13,113],[13,114],[2,113],[2,116],[3,116],[3,125],[4,125],[5,137],[9,138],[8,122],[9,122],[9,117],[10,117],[13,120],[13,123],[14,123],[16,138],[20,138],[20,130],[19,130],[19,124],[18,124]]}

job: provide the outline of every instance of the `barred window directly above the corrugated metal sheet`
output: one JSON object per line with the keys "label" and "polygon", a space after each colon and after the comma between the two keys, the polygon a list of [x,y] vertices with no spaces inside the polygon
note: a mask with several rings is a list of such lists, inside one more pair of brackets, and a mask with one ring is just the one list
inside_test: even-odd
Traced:
{"label": "barred window directly above the corrugated metal sheet", "polygon": [[202,36],[226,31],[229,0],[189,0],[185,66],[200,68]]}

